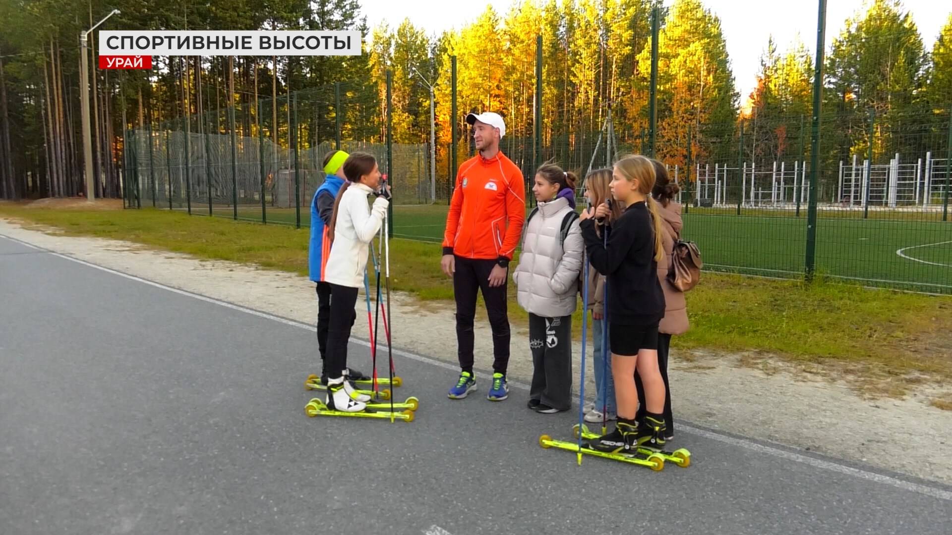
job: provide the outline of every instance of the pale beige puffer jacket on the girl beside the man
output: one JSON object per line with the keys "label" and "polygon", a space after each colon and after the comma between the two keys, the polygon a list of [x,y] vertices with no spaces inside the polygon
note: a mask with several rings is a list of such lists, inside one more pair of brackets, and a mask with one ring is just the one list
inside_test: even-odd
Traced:
{"label": "pale beige puffer jacket on the girl beside the man", "polygon": [[572,223],[561,243],[562,220],[572,211],[565,198],[539,203],[539,212],[526,226],[519,266],[512,274],[519,306],[537,316],[567,316],[578,307],[582,269],[582,229]]}

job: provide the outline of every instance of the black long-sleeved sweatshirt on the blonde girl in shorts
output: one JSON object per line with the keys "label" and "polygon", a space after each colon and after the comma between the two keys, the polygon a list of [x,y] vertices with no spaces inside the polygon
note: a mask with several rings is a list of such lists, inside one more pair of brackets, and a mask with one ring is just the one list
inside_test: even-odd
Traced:
{"label": "black long-sleeved sweatshirt on the blonde girl in shorts", "polygon": [[595,221],[582,222],[582,237],[592,267],[607,276],[608,322],[650,326],[664,317],[664,290],[654,259],[654,230],[645,202],[634,203],[611,226],[608,247],[595,232]]}

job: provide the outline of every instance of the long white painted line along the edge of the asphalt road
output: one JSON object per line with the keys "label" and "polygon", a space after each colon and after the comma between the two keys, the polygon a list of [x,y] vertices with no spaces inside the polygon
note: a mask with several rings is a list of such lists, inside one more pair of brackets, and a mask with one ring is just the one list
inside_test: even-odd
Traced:
{"label": "long white painted line along the edge of the asphalt road", "polygon": [[[107,272],[107,273],[111,273],[111,274],[113,274],[113,275],[117,275],[117,276],[123,277],[123,278],[125,278],[125,279],[129,279],[129,280],[131,280],[131,281],[135,281],[135,282],[138,282],[138,283],[142,283],[142,284],[144,284],[144,285],[149,285],[150,287],[162,288],[162,289],[168,290],[168,291],[170,291],[170,292],[172,292],[172,293],[177,293],[177,294],[179,294],[179,295],[185,295],[185,296],[188,296],[188,297],[191,297],[191,298],[194,298],[194,299],[198,299],[199,301],[205,301],[206,303],[212,303],[212,304],[215,304],[215,305],[219,305],[219,306],[221,306],[221,307],[226,307],[226,308],[230,308],[230,309],[232,309],[232,310],[238,310],[238,311],[241,311],[241,312],[245,312],[245,313],[251,314],[252,316],[257,316],[257,317],[259,317],[259,318],[264,318],[264,319],[268,319],[268,320],[271,320],[271,321],[275,321],[275,322],[278,322],[278,323],[281,323],[281,324],[288,325],[288,326],[290,326],[290,327],[304,328],[304,329],[307,329],[308,331],[312,331],[312,330],[314,329],[314,327],[311,326],[311,325],[304,324],[304,323],[301,323],[301,322],[297,322],[297,321],[294,321],[294,320],[289,320],[288,318],[282,318],[281,316],[275,316],[275,315],[273,315],[273,314],[268,314],[268,312],[262,312],[262,311],[260,311],[260,310],[255,310],[255,309],[253,309],[253,308],[248,308],[248,307],[241,307],[241,306],[239,306],[239,305],[234,305],[233,303],[228,303],[227,301],[221,301],[221,300],[214,299],[214,298],[212,298],[212,297],[208,297],[208,296],[205,296],[205,295],[200,295],[200,294],[197,294],[197,293],[192,293],[192,292],[187,291],[187,290],[184,290],[184,289],[179,289],[179,288],[176,288],[176,287],[169,287],[169,286],[166,286],[166,285],[163,285],[163,284],[160,284],[160,283],[156,283],[156,282],[153,282],[153,281],[149,281],[149,280],[147,280],[147,279],[143,279],[143,278],[141,278],[141,277],[136,277],[135,275],[129,275],[129,273],[123,273],[122,271],[117,271],[117,270],[115,270],[115,269],[110,269],[110,268],[104,268],[104,267],[102,267],[102,266],[97,266],[97,265],[91,264],[91,263],[89,263],[89,262],[87,262],[87,261],[85,261],[85,260],[80,260],[80,259],[78,259],[78,258],[73,258],[73,257],[71,257],[71,256],[69,256],[69,255],[66,255],[66,254],[62,254],[62,253],[58,253],[58,252],[55,252],[55,251],[51,251],[50,249],[38,248],[38,247],[32,246],[32,245],[30,245],[30,244],[28,244],[28,243],[26,243],[26,242],[23,242],[23,241],[21,241],[21,240],[17,240],[16,238],[11,238],[10,236],[6,236],[6,235],[4,235],[4,234],[0,234],[0,237],[7,238],[7,239],[10,240],[10,241],[13,241],[13,242],[22,244],[22,245],[27,246],[27,247],[29,247],[29,248],[35,248],[35,249],[38,249],[38,250],[46,251],[46,252],[48,252],[49,254],[51,254],[51,255],[53,255],[53,256],[56,256],[56,257],[59,257],[59,258],[62,258],[62,259],[64,259],[64,260],[69,260],[70,262],[75,262],[75,263],[77,263],[77,264],[82,264],[83,266],[87,266],[87,267],[89,267],[89,268],[99,269],[99,270],[101,270],[101,271],[105,271],[105,272]],[[360,344],[360,345],[365,346],[365,347],[369,347],[369,346],[370,346],[369,342],[367,342],[366,340],[354,339],[353,337],[351,337],[350,341],[351,341],[351,342],[354,342],[354,343],[356,343],[356,344]],[[400,350],[400,349],[393,349],[393,354],[395,354],[395,355],[400,355],[400,356],[402,356],[402,357],[406,357],[406,358],[408,358],[408,359],[410,359],[410,360],[414,360],[414,361],[417,361],[417,362],[426,363],[426,364],[428,364],[428,365],[432,365],[432,366],[435,366],[435,367],[442,367],[442,368],[445,368],[445,369],[449,369],[449,370],[452,370],[452,371],[454,371],[454,372],[459,370],[459,367],[457,367],[457,366],[453,366],[453,365],[450,365],[450,364],[445,363],[445,362],[442,362],[442,361],[437,361],[437,360],[434,360],[434,359],[431,359],[431,358],[429,358],[429,357],[425,357],[425,356],[422,356],[422,355],[417,355],[417,354],[414,354],[414,353],[409,353],[409,352],[407,352],[407,351],[403,351],[403,350]],[[482,371],[482,370],[481,370],[481,371]],[[529,389],[529,386],[528,386],[528,385],[526,385],[526,384],[524,384],[524,383],[518,383],[518,382],[515,382],[515,381],[509,382],[509,385],[510,385],[510,386],[515,386],[515,387],[520,388],[520,389],[523,389],[523,390],[528,390],[528,389]],[[788,461],[794,461],[794,462],[797,462],[797,463],[803,463],[804,465],[813,466],[813,467],[816,467],[816,468],[820,468],[820,469],[828,470],[828,471],[832,471],[832,472],[838,472],[838,473],[841,473],[841,474],[853,476],[853,477],[856,477],[856,478],[859,478],[859,479],[863,479],[863,480],[866,480],[866,481],[870,481],[870,482],[874,482],[874,483],[880,483],[880,484],[883,484],[883,485],[895,486],[895,487],[897,487],[897,488],[902,488],[903,490],[909,490],[909,491],[912,491],[912,492],[918,492],[918,493],[923,494],[923,495],[925,495],[925,496],[931,496],[931,497],[933,497],[933,498],[939,498],[939,499],[941,499],[941,500],[952,501],[952,491],[950,491],[950,490],[944,490],[944,489],[942,489],[942,488],[938,488],[938,487],[934,487],[934,486],[921,485],[921,484],[918,484],[918,483],[911,483],[911,482],[907,482],[907,481],[902,481],[901,479],[897,479],[897,478],[894,478],[894,477],[891,477],[891,476],[886,476],[886,475],[883,475],[883,474],[878,474],[878,473],[875,473],[875,472],[866,471],[866,470],[863,470],[863,469],[860,469],[860,468],[854,468],[854,467],[852,467],[852,466],[845,466],[845,465],[841,465],[841,464],[839,464],[839,463],[834,463],[834,462],[832,462],[832,461],[826,461],[826,460],[823,460],[823,459],[817,459],[817,458],[815,458],[815,457],[809,457],[809,456],[806,456],[806,455],[801,455],[801,454],[799,454],[799,453],[794,453],[794,452],[792,452],[792,451],[786,451],[786,450],[784,450],[784,449],[780,449],[780,448],[777,448],[777,447],[764,446],[764,445],[762,445],[762,444],[758,444],[758,443],[755,443],[755,442],[753,442],[753,441],[749,441],[749,440],[746,440],[746,439],[735,438],[735,437],[723,435],[723,434],[721,434],[721,433],[717,433],[717,432],[714,432],[714,431],[708,431],[708,430],[706,430],[706,429],[701,429],[701,428],[694,427],[694,426],[685,426],[684,424],[676,424],[676,425],[675,425],[675,428],[678,429],[678,430],[683,430],[683,431],[685,431],[685,432],[687,432],[687,433],[690,433],[690,434],[693,434],[693,435],[697,435],[697,436],[700,436],[700,437],[704,437],[704,438],[706,438],[706,439],[715,440],[715,441],[718,441],[718,442],[721,442],[721,443],[724,443],[724,444],[728,444],[728,445],[732,445],[732,446],[744,447],[745,449],[749,449],[749,450],[751,450],[751,451],[756,451],[756,452],[758,452],[758,453],[764,453],[764,454],[766,454],[766,455],[771,455],[771,456],[773,456],[773,457],[779,457],[779,458],[781,458],[781,459],[786,459],[786,460],[788,460]],[[437,532],[437,533],[439,533],[439,532]]]}

